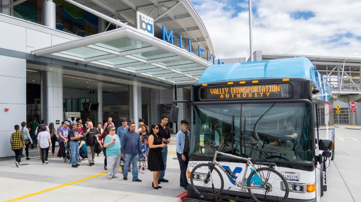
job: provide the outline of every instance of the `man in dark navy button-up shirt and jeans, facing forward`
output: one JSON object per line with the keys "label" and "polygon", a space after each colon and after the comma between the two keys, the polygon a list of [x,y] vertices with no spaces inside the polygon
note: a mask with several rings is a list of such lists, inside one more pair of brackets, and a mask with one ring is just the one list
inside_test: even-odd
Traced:
{"label": "man in dark navy button-up shirt and jeans, facing forward", "polygon": [[136,169],[138,159],[142,152],[140,136],[138,133],[135,132],[135,123],[131,123],[129,125],[129,129],[130,129],[129,132],[124,134],[123,139],[121,141],[121,157],[125,159],[123,179],[128,180],[128,170],[131,161],[133,166],[132,181],[142,182],[142,180],[138,179],[138,169]]}

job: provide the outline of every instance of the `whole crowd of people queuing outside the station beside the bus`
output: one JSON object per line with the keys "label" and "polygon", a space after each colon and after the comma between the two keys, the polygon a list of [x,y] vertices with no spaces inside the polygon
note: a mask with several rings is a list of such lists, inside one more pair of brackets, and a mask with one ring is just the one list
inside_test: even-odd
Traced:
{"label": "whole crowd of people queuing outside the station beside the bus", "polygon": [[[121,120],[116,129],[112,118],[104,123],[97,123],[97,127],[87,119],[83,125],[82,119],[74,117],[64,120],[60,127],[54,128],[54,123],[40,123],[33,118],[31,123],[22,122],[15,125],[15,132],[10,137],[11,148],[15,153],[15,165],[21,165],[23,148],[26,160],[29,158],[29,147],[39,148],[42,164],[48,164],[48,155],[55,156],[55,143],[58,142],[57,158],[63,162],[71,162],[71,167],[77,168],[80,162],[87,159],[88,165],[95,165],[95,157],[103,151],[104,169],[108,171],[108,179],[119,178],[117,171],[122,166],[123,180],[128,180],[128,173],[132,173],[133,182],[142,182],[138,173],[153,171],[152,187],[162,188],[161,182],[165,179],[168,143],[170,130],[167,127],[169,118],[161,116],[160,124],[152,124],[148,128],[144,119],[139,119],[137,128],[134,121]],[[187,189],[186,169],[188,165],[189,131],[188,121],[181,121],[182,129],[176,136],[176,152],[181,169],[180,186]]]}

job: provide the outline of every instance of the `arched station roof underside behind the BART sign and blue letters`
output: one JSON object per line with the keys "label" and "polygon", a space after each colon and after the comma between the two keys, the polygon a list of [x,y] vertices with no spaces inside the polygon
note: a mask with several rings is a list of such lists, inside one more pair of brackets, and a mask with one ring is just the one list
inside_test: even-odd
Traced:
{"label": "arched station roof underside behind the BART sign and blue letters", "polygon": [[[75,0],[100,13],[121,20],[134,27],[136,11],[155,19],[155,36],[161,38],[162,25],[173,30],[175,45],[178,36],[191,40],[192,49],[197,54],[198,45],[214,54],[208,32],[190,0]],[[157,17],[159,17],[157,19]],[[178,43],[178,44],[177,44]],[[187,47],[184,44],[184,47]],[[205,57],[205,56],[204,56]]]}

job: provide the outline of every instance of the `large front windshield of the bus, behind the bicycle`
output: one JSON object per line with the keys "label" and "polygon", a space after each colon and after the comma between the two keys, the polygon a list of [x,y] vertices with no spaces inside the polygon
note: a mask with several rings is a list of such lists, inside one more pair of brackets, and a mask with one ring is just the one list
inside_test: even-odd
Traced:
{"label": "large front windshield of the bus, behind the bicycle", "polygon": [[306,103],[193,105],[190,153],[201,155],[197,144],[210,139],[221,152],[248,157],[247,142],[258,141],[259,148],[279,153],[257,151],[252,159],[312,161],[310,118]]}

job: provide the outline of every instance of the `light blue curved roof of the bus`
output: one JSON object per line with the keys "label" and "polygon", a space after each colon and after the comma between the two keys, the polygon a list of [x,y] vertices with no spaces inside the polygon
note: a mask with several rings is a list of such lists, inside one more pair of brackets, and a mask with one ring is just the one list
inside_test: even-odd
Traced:
{"label": "light blue curved roof of the bus", "polygon": [[329,84],[304,57],[212,65],[204,70],[198,83],[254,78],[308,78],[331,95]]}

